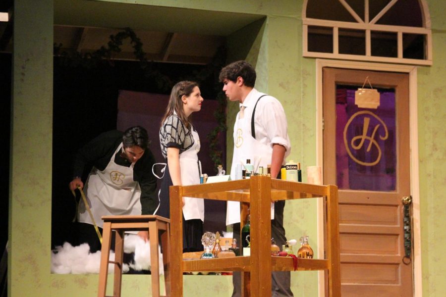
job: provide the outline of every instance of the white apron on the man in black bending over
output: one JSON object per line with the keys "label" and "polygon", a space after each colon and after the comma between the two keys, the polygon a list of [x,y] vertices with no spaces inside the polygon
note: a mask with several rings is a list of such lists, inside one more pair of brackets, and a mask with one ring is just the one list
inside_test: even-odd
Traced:
{"label": "white apron on the man in black bending over", "polygon": [[[140,215],[141,189],[133,180],[133,166],[121,166],[114,162],[115,154],[122,148],[122,143],[111,155],[107,167],[100,171],[93,167],[84,191],[88,204],[98,227],[103,227],[103,215]],[[81,199],[79,201],[78,221],[93,224]]]}

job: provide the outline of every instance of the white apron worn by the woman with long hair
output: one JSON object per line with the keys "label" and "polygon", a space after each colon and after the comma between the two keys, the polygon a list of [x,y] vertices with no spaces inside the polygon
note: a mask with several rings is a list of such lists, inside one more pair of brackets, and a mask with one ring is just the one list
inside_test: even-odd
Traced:
{"label": "white apron worn by the woman with long hair", "polygon": [[[194,144],[179,155],[181,184],[183,186],[200,184],[197,155],[200,151],[200,138],[193,129],[191,129],[191,133]],[[202,198],[184,197],[183,216],[185,220],[200,219],[204,221],[204,200]]]}

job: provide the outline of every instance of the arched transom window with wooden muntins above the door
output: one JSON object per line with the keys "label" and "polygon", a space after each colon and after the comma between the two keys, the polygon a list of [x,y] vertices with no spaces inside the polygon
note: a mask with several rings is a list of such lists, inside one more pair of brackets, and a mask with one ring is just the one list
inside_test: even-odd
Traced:
{"label": "arched transom window with wooden muntins above the door", "polygon": [[304,0],[303,56],[432,65],[425,0]]}

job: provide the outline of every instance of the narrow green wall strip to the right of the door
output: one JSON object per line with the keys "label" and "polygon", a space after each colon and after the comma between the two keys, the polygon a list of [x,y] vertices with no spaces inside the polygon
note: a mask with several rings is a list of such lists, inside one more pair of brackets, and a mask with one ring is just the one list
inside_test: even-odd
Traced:
{"label": "narrow green wall strip to the right of the door", "polygon": [[446,292],[446,1],[429,0],[434,64],[418,68],[423,296]]}

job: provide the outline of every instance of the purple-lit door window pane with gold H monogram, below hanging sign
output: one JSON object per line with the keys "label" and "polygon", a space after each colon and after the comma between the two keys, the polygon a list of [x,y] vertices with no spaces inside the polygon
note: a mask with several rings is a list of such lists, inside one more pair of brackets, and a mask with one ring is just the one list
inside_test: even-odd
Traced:
{"label": "purple-lit door window pane with gold H monogram, below hanging sign", "polygon": [[395,191],[394,90],[379,90],[380,106],[372,109],[355,105],[358,88],[336,86],[337,186],[343,190]]}

